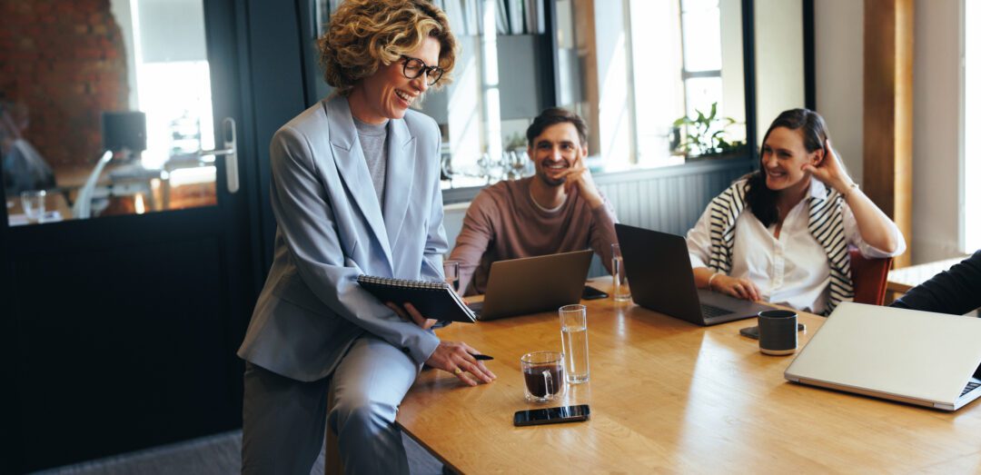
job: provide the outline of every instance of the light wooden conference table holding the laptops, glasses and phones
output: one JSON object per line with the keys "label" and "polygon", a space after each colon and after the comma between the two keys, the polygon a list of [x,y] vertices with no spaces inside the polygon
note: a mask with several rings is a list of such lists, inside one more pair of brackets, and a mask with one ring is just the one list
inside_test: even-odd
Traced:
{"label": "light wooden conference table holding the laptops, glasses and phones", "polygon": [[[609,281],[594,287],[608,290]],[[490,385],[424,371],[397,423],[462,473],[981,470],[981,407],[955,413],[789,383],[793,356],[766,356],[739,329],[702,328],[611,299],[588,307],[590,382],[563,400],[524,399],[519,358],[561,350],[557,312],[453,324],[443,340],[494,356]],[[806,343],[824,319],[801,314]],[[514,427],[514,411],[589,403],[592,420]]]}

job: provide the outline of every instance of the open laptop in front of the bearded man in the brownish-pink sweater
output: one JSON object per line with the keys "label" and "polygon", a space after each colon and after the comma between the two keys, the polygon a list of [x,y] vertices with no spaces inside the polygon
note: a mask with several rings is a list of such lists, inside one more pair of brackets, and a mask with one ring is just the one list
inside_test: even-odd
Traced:
{"label": "open laptop in front of the bearded man in the brownish-pink sweater", "polygon": [[578,250],[490,264],[483,302],[470,304],[478,320],[556,311],[579,303],[592,250]]}

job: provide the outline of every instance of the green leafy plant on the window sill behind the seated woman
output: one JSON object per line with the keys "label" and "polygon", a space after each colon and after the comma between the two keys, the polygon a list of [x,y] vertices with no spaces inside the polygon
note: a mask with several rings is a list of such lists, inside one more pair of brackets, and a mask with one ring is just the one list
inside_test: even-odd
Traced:
{"label": "green leafy plant on the window sill behind the seated woman", "polygon": [[684,116],[674,122],[676,132],[672,137],[672,144],[676,144],[675,153],[689,158],[708,158],[732,155],[746,147],[745,141],[729,140],[726,129],[736,124],[736,120],[731,117],[718,117],[717,108],[718,103],[713,102],[708,115],[696,109],[695,119]]}

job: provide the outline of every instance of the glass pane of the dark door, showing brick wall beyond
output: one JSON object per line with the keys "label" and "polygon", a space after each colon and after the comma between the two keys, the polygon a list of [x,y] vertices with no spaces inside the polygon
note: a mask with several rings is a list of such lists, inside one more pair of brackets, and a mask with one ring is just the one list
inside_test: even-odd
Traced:
{"label": "glass pane of the dark door, showing brick wall beyond", "polygon": [[[34,152],[0,150],[10,224],[25,224],[14,201],[26,189],[47,191],[43,219],[29,223],[216,204],[213,159],[197,155],[215,145],[202,0],[63,2],[57,14],[45,8],[31,4],[5,19],[21,40],[3,43],[14,51],[0,56],[29,45],[50,58],[16,70],[21,76],[0,90],[12,104],[0,109],[13,113],[22,110],[13,104],[23,104],[31,119],[21,128],[15,114],[9,126],[0,120],[3,142],[23,139]],[[106,150],[111,155],[100,159]],[[17,162],[33,164],[35,179],[17,178],[15,153],[30,155]]]}

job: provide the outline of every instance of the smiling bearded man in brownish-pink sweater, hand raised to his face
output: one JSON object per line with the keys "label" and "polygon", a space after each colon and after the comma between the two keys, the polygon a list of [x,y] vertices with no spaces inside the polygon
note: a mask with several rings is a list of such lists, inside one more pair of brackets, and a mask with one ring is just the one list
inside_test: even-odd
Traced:
{"label": "smiling bearded man in brownish-pink sweater, hand raised to his face", "polygon": [[606,269],[616,217],[586,168],[586,122],[545,109],[528,128],[535,176],[499,182],[474,198],[449,258],[460,261],[460,289],[484,293],[490,264],[593,248]]}

